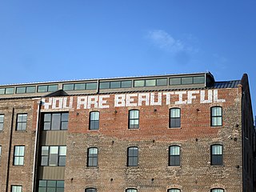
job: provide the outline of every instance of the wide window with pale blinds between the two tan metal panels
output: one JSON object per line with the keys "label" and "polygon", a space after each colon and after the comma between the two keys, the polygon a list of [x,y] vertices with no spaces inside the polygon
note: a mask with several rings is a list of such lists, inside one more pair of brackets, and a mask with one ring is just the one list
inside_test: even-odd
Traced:
{"label": "wide window with pale blinds between the two tan metal panels", "polygon": [[41,166],[66,166],[66,146],[42,146]]}

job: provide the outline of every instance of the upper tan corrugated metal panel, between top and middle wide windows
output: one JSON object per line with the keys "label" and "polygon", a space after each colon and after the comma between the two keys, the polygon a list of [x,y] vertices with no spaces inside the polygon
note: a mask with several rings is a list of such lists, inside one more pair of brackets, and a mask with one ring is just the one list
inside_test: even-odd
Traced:
{"label": "upper tan corrugated metal panel, between top and middle wide windows", "polygon": [[41,144],[46,146],[66,146],[66,130],[42,131]]}

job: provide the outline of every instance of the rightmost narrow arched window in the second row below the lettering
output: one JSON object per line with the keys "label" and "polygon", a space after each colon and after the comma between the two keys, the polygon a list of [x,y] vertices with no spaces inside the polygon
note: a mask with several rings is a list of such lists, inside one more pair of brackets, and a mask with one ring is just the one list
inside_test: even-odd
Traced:
{"label": "rightmost narrow arched window in the second row below the lettering", "polygon": [[222,166],[223,164],[223,151],[222,145],[213,145],[210,147],[210,165]]}

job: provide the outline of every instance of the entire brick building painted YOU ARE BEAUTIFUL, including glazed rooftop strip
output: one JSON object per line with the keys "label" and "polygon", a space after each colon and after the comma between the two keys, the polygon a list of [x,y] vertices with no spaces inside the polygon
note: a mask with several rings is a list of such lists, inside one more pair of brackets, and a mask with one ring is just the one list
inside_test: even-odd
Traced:
{"label": "entire brick building painted YOU ARE BEAUTIFUL, including glazed rooftop strip", "polygon": [[251,192],[247,75],[0,86],[0,191]]}

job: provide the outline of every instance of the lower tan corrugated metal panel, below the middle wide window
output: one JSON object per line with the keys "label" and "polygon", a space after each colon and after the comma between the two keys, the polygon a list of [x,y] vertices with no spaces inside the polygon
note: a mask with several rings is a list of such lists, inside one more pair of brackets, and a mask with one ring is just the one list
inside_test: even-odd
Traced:
{"label": "lower tan corrugated metal panel, below the middle wide window", "polygon": [[65,166],[40,166],[39,179],[64,180]]}

